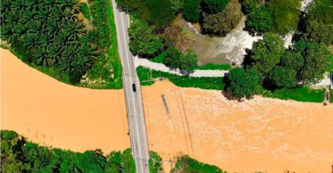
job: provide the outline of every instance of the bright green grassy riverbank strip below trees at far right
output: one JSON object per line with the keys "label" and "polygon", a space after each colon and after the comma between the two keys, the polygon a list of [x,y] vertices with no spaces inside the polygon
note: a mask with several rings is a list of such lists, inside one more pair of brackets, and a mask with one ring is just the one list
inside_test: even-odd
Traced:
{"label": "bright green grassy riverbank strip below trees at far right", "polygon": [[323,89],[311,89],[303,86],[295,89],[277,89],[274,92],[264,91],[264,97],[292,99],[296,101],[323,102],[325,91]]}

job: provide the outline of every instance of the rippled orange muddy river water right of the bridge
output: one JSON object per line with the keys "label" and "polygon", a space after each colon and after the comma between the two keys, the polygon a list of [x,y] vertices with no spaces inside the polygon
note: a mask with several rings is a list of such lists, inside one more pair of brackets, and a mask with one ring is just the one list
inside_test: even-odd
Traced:
{"label": "rippled orange muddy river water right of the bridge", "polygon": [[229,101],[220,91],[168,82],[144,87],[143,98],[150,150],[164,160],[189,154],[231,173],[332,171],[332,104],[260,96]]}

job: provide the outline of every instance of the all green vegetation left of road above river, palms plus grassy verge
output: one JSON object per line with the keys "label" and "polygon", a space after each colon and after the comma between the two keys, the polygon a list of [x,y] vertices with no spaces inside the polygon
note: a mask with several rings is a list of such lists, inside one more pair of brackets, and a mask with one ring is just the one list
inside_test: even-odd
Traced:
{"label": "all green vegetation left of road above river, palms plus grassy verge", "polygon": [[[89,7],[79,0],[0,0],[0,39],[10,44],[22,61],[41,71],[54,72],[49,75],[62,82],[78,84],[90,70],[91,79],[110,78],[111,70],[119,78],[118,62],[102,68],[111,64],[106,56],[117,58],[117,51],[109,50],[116,36],[110,34],[108,6],[106,0],[92,0]],[[81,10],[89,17],[92,29],[79,17]]]}

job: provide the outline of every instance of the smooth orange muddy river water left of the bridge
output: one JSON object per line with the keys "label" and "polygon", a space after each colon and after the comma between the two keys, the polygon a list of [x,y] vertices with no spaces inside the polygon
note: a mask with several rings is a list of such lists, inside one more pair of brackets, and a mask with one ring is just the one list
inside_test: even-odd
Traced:
{"label": "smooth orange muddy river water left of the bridge", "polygon": [[0,49],[0,128],[43,145],[104,153],[130,147],[123,90],[69,86]]}

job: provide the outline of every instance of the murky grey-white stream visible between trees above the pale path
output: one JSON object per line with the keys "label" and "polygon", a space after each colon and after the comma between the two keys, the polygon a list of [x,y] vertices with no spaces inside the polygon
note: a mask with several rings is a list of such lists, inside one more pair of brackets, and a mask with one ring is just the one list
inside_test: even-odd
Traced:
{"label": "murky grey-white stream visible between trees above the pale path", "polygon": [[[300,4],[301,10],[306,12],[307,6],[312,0],[303,0]],[[244,30],[246,16],[243,16],[238,26],[234,28],[225,37],[210,37],[202,35],[197,29],[183,21],[184,26],[190,31],[195,42],[191,49],[199,54],[199,65],[207,63],[223,64],[232,63],[241,66],[244,61],[246,49],[252,49],[253,42],[262,39],[262,36],[251,36],[248,31]],[[293,32],[288,33],[281,38],[285,41],[285,47],[291,46]]]}

